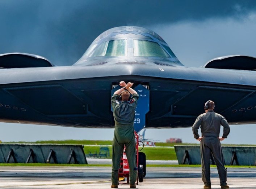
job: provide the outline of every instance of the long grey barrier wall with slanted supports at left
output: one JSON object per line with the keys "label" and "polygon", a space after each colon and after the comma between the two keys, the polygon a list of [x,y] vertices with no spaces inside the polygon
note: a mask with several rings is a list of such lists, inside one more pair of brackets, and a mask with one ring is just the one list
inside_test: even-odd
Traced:
{"label": "long grey barrier wall with slanted supports at left", "polygon": [[0,163],[88,164],[83,145],[0,144]]}

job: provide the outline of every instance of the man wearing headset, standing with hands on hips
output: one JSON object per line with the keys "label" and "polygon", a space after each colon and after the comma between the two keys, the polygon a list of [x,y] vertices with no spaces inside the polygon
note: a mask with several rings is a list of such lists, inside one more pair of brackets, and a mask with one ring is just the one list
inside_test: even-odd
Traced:
{"label": "man wearing headset, standing with hands on hips", "polygon": [[[198,116],[192,130],[194,138],[200,141],[200,152],[202,161],[202,180],[205,186],[203,188],[211,188],[210,180],[210,157],[213,154],[216,163],[221,188],[229,188],[227,185],[227,169],[224,167],[224,158],[222,154],[221,142],[226,139],[230,127],[227,120],[220,114],[215,113],[214,102],[209,100],[205,103],[205,113]],[[219,137],[219,132],[223,126],[223,136]],[[198,129],[201,126],[202,137],[198,135]]]}

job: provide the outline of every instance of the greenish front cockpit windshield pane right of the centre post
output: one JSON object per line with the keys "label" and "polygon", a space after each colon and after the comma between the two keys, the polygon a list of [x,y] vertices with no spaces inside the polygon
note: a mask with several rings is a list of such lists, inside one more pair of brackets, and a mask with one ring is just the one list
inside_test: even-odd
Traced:
{"label": "greenish front cockpit windshield pane right of the centre post", "polygon": [[133,40],[133,56],[170,57],[158,43],[146,40]]}

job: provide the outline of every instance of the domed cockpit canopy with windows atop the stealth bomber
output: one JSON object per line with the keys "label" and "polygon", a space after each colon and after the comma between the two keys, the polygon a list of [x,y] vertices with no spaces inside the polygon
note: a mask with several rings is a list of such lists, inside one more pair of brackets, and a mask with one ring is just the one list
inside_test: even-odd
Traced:
{"label": "domed cockpit canopy with windows atop the stealth bomber", "polygon": [[75,65],[90,60],[118,57],[135,62],[140,57],[181,64],[165,41],[155,32],[134,26],[115,27],[99,35]]}

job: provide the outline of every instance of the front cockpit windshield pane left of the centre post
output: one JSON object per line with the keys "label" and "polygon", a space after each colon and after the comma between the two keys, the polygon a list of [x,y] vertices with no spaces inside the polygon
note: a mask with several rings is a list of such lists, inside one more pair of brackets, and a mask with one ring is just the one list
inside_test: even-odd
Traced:
{"label": "front cockpit windshield pane left of the centre post", "polygon": [[127,56],[127,40],[105,41],[89,57],[95,56]]}

